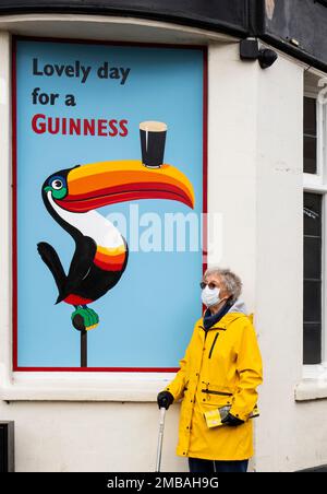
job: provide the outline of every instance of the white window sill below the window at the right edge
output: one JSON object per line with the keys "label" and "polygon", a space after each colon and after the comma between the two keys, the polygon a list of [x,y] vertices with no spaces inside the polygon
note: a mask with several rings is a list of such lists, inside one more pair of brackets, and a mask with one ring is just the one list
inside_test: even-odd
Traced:
{"label": "white window sill below the window at the right edge", "polygon": [[303,379],[295,387],[295,401],[327,399],[327,363],[305,365]]}

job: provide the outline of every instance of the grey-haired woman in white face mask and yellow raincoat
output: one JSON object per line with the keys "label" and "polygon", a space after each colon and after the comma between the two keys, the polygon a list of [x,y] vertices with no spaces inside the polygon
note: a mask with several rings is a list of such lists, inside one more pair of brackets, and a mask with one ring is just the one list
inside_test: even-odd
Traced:
{"label": "grey-haired woman in white face mask and yellow raincoat", "polygon": [[[246,472],[253,456],[251,417],[262,383],[262,358],[251,316],[239,299],[242,283],[228,269],[208,269],[201,283],[207,307],[158,405],[182,398],[177,454],[191,472]],[[209,427],[206,413],[225,408],[222,425]]]}

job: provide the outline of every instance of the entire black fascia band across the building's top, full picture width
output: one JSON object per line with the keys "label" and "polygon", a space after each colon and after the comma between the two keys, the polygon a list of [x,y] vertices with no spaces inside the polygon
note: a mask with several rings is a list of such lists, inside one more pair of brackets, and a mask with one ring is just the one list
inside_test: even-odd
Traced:
{"label": "entire black fascia band across the building's top, full picture width", "polygon": [[19,12],[132,15],[257,36],[327,71],[327,0],[0,0],[0,15]]}

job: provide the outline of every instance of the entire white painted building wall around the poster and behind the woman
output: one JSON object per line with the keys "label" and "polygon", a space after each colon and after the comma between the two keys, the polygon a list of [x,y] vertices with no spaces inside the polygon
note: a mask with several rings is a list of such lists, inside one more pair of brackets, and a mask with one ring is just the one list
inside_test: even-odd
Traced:
{"label": "entire white painted building wall around the poster and behind the woman", "polygon": [[[5,34],[0,43],[8,46]],[[8,64],[1,70],[3,81]],[[209,44],[208,210],[222,221],[221,244],[209,263],[220,261],[240,273],[244,299],[255,314],[265,366],[252,464],[257,471],[327,463],[327,401],[294,400],[302,379],[303,70],[280,56],[272,68],[262,71],[256,62],[240,61],[235,42]],[[8,98],[2,101],[0,111],[9,125],[8,105]],[[9,137],[10,129],[4,128],[0,138],[4,178]],[[10,227],[9,213],[8,190],[1,196],[4,228]],[[1,376],[11,383],[9,263],[8,246],[1,252],[7,293],[2,286],[0,361]],[[146,388],[147,383],[137,386]],[[46,401],[46,393],[44,400],[28,400],[28,392],[24,400],[21,396],[19,401],[0,401],[0,419],[15,421],[16,470],[154,470],[159,419],[155,399],[161,387],[162,379],[149,392],[144,390],[138,401],[131,393],[125,401],[101,401],[100,392],[97,402],[78,401],[82,376],[71,395],[74,402],[69,397]],[[179,404],[173,404],[165,431],[165,471],[186,470],[186,461],[174,454]]]}

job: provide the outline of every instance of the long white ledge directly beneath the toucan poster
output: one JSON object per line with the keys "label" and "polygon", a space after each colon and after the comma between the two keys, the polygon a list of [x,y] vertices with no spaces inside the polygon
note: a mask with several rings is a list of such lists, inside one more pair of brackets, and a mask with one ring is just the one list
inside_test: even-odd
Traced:
{"label": "long white ledge directly beneath the toucan poster", "polygon": [[[2,372],[1,372],[2,370]],[[12,373],[0,368],[3,401],[134,401],[155,402],[174,374]]]}

